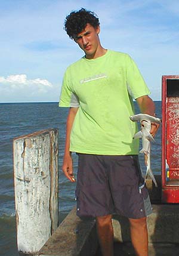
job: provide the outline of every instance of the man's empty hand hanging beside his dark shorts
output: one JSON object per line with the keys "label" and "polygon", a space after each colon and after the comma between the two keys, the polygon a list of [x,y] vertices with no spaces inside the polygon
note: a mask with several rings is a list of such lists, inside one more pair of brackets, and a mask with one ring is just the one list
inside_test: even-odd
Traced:
{"label": "man's empty hand hanging beside his dark shorts", "polygon": [[76,181],[75,177],[73,176],[73,159],[71,155],[64,156],[62,171],[71,182]]}

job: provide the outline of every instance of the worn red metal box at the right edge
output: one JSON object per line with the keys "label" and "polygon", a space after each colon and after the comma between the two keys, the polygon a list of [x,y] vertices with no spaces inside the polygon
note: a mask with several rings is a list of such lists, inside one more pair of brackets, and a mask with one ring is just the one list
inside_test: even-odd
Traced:
{"label": "worn red metal box at the right edge", "polygon": [[179,76],[162,76],[162,202],[179,203]]}

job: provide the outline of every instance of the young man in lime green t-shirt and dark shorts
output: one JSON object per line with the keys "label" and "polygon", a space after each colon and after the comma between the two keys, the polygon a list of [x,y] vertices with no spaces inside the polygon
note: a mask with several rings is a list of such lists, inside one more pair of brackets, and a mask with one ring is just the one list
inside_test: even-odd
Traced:
{"label": "young man in lime green t-shirt and dark shorts", "polygon": [[[128,54],[100,44],[100,23],[82,8],[66,17],[65,30],[85,56],[70,65],[63,79],[59,106],[67,117],[63,172],[74,182],[71,152],[79,155],[77,214],[95,217],[103,256],[113,255],[112,214],[129,218],[137,256],[148,255],[146,216],[152,212],[138,166],[137,124],[132,98],[142,113],[155,115],[155,104]],[[154,136],[158,125],[153,124]]]}

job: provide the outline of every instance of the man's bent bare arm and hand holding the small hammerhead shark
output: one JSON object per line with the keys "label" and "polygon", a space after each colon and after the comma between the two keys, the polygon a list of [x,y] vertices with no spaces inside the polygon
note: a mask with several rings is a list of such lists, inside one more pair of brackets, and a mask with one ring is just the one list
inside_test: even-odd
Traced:
{"label": "man's bent bare arm and hand holding the small hammerhead shark", "polygon": [[[141,96],[136,99],[138,106],[140,107],[141,113],[148,114],[150,116],[155,116],[155,104],[148,95]],[[159,124],[152,123],[152,127],[150,133],[154,137],[156,132],[158,131]]]}

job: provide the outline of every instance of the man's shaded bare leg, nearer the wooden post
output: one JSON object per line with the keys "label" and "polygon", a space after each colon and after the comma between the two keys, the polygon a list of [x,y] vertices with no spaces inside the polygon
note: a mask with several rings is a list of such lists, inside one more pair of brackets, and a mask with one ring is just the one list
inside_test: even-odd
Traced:
{"label": "man's shaded bare leg, nearer the wooden post", "polygon": [[96,217],[98,239],[103,256],[113,256],[112,215]]}

